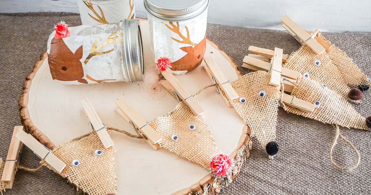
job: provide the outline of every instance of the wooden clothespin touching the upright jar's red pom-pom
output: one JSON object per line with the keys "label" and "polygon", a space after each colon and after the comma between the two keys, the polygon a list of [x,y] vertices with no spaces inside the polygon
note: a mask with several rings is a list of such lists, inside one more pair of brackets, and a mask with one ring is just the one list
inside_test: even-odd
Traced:
{"label": "wooden clothespin touching the upright jar's red pom-pom", "polygon": [[162,75],[164,78],[170,83],[171,87],[174,89],[174,95],[177,96],[178,100],[183,100],[184,103],[190,108],[193,114],[199,115],[204,113],[204,109],[197,103],[197,101],[193,98],[183,85],[174,77],[174,75],[166,70],[162,71]]}

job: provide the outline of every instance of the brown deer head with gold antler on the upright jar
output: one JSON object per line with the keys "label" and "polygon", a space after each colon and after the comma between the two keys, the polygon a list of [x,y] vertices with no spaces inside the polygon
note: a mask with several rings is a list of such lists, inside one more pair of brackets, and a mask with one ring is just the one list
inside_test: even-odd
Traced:
{"label": "brown deer head with gold antler on the upright jar", "polygon": [[187,37],[181,34],[180,29],[179,29],[180,27],[179,22],[177,22],[176,25],[174,25],[173,22],[169,22],[169,25],[165,24],[165,26],[171,31],[177,33],[182,40],[178,40],[173,37],[171,39],[173,39],[174,41],[178,43],[185,43],[185,44],[191,45],[191,46],[179,48],[187,54],[185,54],[182,58],[178,59],[177,61],[171,62],[172,67],[170,69],[173,71],[187,71],[187,72],[190,72],[196,69],[197,66],[201,64],[202,59],[206,52],[206,35],[205,35],[205,38],[201,40],[200,43],[196,44],[196,43],[191,42],[187,26],[184,26],[187,32]]}

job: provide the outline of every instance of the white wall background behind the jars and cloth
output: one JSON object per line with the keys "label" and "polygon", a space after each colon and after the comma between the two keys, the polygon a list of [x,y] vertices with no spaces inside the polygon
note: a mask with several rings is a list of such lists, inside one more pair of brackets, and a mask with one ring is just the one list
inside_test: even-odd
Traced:
{"label": "white wall background behind the jars and cloth", "polygon": [[[74,12],[78,0],[0,0],[0,13]],[[135,0],[138,17],[147,17]],[[371,32],[371,0],[210,0],[208,22],[229,26],[280,29],[287,14],[306,30]]]}

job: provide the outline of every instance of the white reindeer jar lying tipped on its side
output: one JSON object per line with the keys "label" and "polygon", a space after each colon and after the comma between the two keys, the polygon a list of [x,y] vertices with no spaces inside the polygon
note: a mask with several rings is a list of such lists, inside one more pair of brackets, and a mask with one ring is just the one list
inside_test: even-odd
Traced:
{"label": "white reindeer jar lying tipped on its side", "polygon": [[66,38],[49,36],[50,73],[65,84],[143,81],[139,20],[68,28]]}

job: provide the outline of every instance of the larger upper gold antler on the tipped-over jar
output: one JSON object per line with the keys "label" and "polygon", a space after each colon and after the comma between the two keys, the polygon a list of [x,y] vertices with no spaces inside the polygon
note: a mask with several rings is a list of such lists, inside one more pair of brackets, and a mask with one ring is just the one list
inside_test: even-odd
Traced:
{"label": "larger upper gold antler on the tipped-over jar", "polygon": [[98,43],[98,40],[100,39],[100,37],[96,38],[95,42],[93,43],[92,45],[92,48],[90,49],[90,53],[88,55],[88,57],[86,57],[85,61],[84,61],[84,64],[87,64],[90,60],[90,58],[92,58],[93,56],[96,56],[96,55],[102,55],[102,54],[105,54],[105,53],[109,53],[109,52],[113,52],[114,49],[110,49],[108,51],[104,51],[104,52],[99,52],[104,46],[108,45],[108,44],[114,44],[114,43],[119,43],[119,42],[123,42],[124,39],[121,39],[121,40],[116,40],[117,38],[123,36],[123,33],[119,33],[118,35],[112,37],[115,33],[117,33],[118,30],[116,30],[115,32],[111,33],[111,35],[109,35],[107,37],[107,39],[105,40],[104,43],[102,43],[101,46],[99,47],[96,47],[96,43]]}

